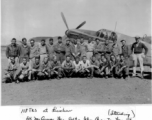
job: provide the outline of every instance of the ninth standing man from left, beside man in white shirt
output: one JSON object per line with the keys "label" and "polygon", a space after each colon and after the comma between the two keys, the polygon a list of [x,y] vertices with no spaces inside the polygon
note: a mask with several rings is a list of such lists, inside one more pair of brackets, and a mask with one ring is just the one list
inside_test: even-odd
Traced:
{"label": "ninth standing man from left, beside man in white shirt", "polygon": [[81,48],[81,59],[82,59],[84,55],[86,56],[86,53],[88,51],[87,45],[84,43],[83,38],[80,39],[80,48]]}

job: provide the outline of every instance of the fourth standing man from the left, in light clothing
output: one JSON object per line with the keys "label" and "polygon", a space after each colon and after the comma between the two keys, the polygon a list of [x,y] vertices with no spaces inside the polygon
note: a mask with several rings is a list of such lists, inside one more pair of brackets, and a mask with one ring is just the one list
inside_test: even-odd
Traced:
{"label": "fourth standing man from the left, in light clothing", "polygon": [[39,46],[39,54],[40,54],[40,64],[42,64],[44,58],[46,58],[48,56],[48,49],[45,44],[45,39],[41,40],[41,44]]}

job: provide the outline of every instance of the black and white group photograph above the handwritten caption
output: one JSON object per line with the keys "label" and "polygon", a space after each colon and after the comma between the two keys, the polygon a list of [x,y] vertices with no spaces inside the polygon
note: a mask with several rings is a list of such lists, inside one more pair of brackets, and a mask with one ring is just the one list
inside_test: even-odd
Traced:
{"label": "black and white group photograph above the handwritten caption", "polygon": [[1,0],[1,105],[151,104],[151,0]]}

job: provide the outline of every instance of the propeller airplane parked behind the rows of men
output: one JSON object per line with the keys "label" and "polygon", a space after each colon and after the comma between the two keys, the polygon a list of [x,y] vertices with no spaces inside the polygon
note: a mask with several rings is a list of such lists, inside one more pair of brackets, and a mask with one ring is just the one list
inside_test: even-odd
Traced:
{"label": "propeller airplane parked behind the rows of men", "polygon": [[[100,29],[98,31],[93,31],[93,30],[84,30],[84,29],[79,29],[81,28],[86,21],[82,22],[79,26],[77,26],[75,29],[69,29],[68,24],[66,22],[66,19],[64,17],[64,14],[61,13],[61,17],[63,19],[63,22],[67,28],[67,30],[65,31],[65,35],[63,36],[63,42],[66,41],[66,39],[79,39],[79,38],[84,38],[84,40],[95,40],[96,38],[98,38],[101,42],[105,42],[105,37],[108,37],[109,39],[109,44],[112,44],[113,41],[110,39],[110,37],[112,37],[113,33],[116,33],[117,35],[117,44],[119,46],[121,46],[121,40],[126,40],[126,44],[129,46],[129,48],[131,48],[131,45],[135,42],[135,38],[128,36],[128,35],[124,35],[122,33],[118,33],[116,31],[112,31],[112,30],[108,30],[108,29]],[[57,37],[34,37],[31,39],[34,39],[36,42],[40,42],[41,39],[45,39],[46,43],[48,43],[49,39],[53,38],[54,39],[54,43],[56,44],[57,42]],[[151,64],[151,37],[147,36],[146,34],[143,36],[143,38],[141,38],[142,41],[148,48],[148,53],[146,55],[146,57],[144,58],[144,66],[149,66],[150,68],[152,67]],[[131,54],[131,49],[129,49],[129,53]],[[133,67],[133,60],[130,57],[130,67]],[[139,66],[139,63],[138,65]]]}

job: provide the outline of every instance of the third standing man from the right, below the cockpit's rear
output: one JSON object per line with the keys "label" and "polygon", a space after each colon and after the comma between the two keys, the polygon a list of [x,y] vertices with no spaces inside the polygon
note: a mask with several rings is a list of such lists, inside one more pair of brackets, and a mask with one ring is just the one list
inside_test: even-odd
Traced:
{"label": "third standing man from the right, below the cockpit's rear", "polygon": [[112,54],[117,56],[117,55],[119,55],[121,53],[120,50],[121,49],[120,49],[120,47],[119,47],[119,45],[117,43],[117,40],[114,39],[113,45],[112,45],[112,49],[111,49]]}

